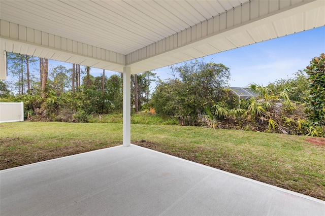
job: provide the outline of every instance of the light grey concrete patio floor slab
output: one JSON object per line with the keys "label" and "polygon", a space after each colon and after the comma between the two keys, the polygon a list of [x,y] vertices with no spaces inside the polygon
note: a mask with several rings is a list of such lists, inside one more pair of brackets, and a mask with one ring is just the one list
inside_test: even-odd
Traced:
{"label": "light grey concrete patio floor slab", "polygon": [[325,215],[325,202],[131,145],[0,171],[0,215]]}

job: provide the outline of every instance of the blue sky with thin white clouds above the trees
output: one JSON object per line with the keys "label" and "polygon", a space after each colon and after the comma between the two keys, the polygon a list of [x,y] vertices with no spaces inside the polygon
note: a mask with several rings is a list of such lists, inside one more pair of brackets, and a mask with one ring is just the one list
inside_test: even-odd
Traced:
{"label": "blue sky with thin white clouds above the trees", "polygon": [[[304,69],[309,61],[325,52],[325,26],[287,35],[285,37],[229,50],[203,58],[205,62],[222,63],[230,68],[230,86],[246,87],[249,83],[268,85],[278,79],[294,77],[299,69]],[[199,59],[200,60],[200,59]],[[49,67],[63,65],[71,68],[72,64],[50,61]],[[170,77],[169,67],[153,72],[161,80]],[[91,68],[90,74],[100,76],[102,69]],[[107,76],[116,74],[105,71]],[[10,75],[9,75],[10,76]],[[9,78],[10,80],[10,78]]]}

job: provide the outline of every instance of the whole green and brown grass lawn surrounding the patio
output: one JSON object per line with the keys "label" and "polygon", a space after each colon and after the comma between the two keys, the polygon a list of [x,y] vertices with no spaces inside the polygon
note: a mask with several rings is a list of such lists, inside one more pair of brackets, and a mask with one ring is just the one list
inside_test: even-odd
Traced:
{"label": "whole green and brown grass lawn surrounding the patio", "polygon": [[[132,143],[325,200],[325,146],[305,136],[131,126]],[[325,138],[318,138],[325,142]],[[0,124],[0,169],[122,144],[122,124]]]}

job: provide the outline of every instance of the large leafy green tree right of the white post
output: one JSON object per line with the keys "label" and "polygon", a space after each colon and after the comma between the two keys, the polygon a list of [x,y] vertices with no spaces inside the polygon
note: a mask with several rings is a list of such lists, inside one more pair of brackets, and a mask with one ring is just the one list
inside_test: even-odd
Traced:
{"label": "large leafy green tree right of the white post", "polygon": [[230,69],[213,62],[185,62],[172,66],[171,73],[173,78],[159,80],[151,104],[157,113],[178,116],[185,125],[196,125],[205,107],[222,99],[230,79]]}

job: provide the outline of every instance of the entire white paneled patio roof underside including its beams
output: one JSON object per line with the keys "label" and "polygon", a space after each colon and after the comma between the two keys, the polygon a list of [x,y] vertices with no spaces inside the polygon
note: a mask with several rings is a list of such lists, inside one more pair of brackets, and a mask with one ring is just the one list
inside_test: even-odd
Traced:
{"label": "entire white paneled patio roof underside including its beams", "polygon": [[0,51],[136,74],[323,26],[324,11],[322,0],[1,0]]}

